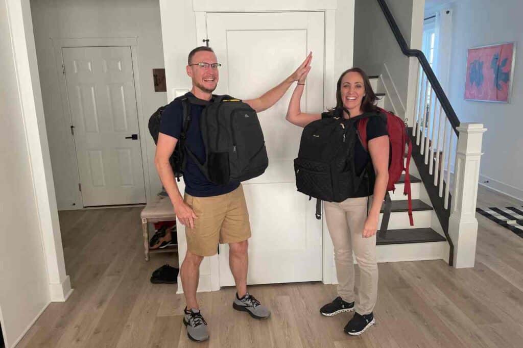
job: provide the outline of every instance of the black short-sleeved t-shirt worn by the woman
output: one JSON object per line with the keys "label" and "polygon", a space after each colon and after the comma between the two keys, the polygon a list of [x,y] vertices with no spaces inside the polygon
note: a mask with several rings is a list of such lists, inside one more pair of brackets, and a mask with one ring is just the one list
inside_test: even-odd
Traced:
{"label": "black short-sleeved t-shirt worn by the woman", "polygon": [[[336,111],[322,113],[322,119],[334,116],[342,117],[342,115],[336,113]],[[358,129],[359,122],[360,121],[356,121],[354,123],[354,127],[356,129]],[[369,118],[369,121],[367,122],[367,143],[370,140],[383,135],[389,135],[387,131],[387,122],[384,115],[380,114],[380,116]],[[358,188],[358,192],[351,198],[367,197],[372,195],[374,193],[374,183],[376,182],[376,173],[372,169],[373,167],[370,158],[370,153],[367,152],[367,150],[365,150],[360,141],[357,141],[354,148],[354,166],[356,168],[356,174],[361,175],[361,173],[363,172],[363,170],[365,170],[365,167],[367,167],[369,163],[371,165],[367,170],[367,179],[363,179],[363,181],[360,184],[360,187]]]}

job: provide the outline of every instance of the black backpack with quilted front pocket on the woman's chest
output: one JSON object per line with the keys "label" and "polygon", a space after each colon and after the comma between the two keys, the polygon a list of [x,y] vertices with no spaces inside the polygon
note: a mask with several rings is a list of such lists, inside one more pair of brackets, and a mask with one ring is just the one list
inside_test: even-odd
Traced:
{"label": "black backpack with quilted front pocket on the woman's chest", "polygon": [[317,199],[317,218],[321,218],[321,201],[343,202],[357,192],[367,170],[356,175],[354,146],[359,139],[354,122],[373,116],[325,118],[303,129],[298,158],[294,159],[296,186]]}

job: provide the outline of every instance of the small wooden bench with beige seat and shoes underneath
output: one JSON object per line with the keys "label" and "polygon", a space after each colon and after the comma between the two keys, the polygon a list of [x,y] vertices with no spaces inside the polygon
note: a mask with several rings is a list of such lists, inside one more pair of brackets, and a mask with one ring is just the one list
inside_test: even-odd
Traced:
{"label": "small wooden bench with beige seat and shoes underneath", "polygon": [[140,214],[142,218],[143,246],[145,248],[145,261],[149,261],[149,254],[159,252],[176,252],[178,246],[168,246],[164,249],[149,249],[149,223],[161,221],[176,221],[173,205],[168,197],[157,197],[147,204]]}

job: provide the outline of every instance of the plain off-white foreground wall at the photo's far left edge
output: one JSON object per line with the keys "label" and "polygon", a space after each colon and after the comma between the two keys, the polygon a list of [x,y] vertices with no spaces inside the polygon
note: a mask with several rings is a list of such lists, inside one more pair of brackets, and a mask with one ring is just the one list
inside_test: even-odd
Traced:
{"label": "plain off-white foreground wall at the photo's far left edge", "polygon": [[0,320],[8,347],[13,346],[50,302],[12,34],[3,1],[0,2]]}

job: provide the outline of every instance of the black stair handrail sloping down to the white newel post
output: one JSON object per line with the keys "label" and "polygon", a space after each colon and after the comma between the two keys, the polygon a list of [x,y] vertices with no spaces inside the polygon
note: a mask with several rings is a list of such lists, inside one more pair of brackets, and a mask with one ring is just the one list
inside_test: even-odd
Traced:
{"label": "black stair handrail sloping down to the white newel post", "polygon": [[[407,42],[405,41],[405,38],[403,37],[403,34],[400,31],[400,28],[397,26],[396,21],[394,20],[394,17],[392,16],[392,13],[389,9],[389,6],[385,3],[385,0],[377,0],[378,4],[381,7],[381,11],[383,12],[383,15],[385,16],[387,22],[389,23],[389,26],[392,30],[392,33],[394,34],[394,37],[396,38],[397,43],[400,45],[401,51],[403,54],[409,57],[416,57],[419,61],[419,64],[422,66],[423,71],[427,75],[427,79],[430,82],[430,85],[434,89],[434,92],[436,94],[436,97],[439,100],[439,103],[441,104],[441,108],[445,111],[445,114],[447,115],[447,119],[450,122],[450,125],[452,126],[452,129],[456,133],[456,135],[459,137],[459,132],[457,130],[457,127],[459,126],[459,119],[456,115],[456,112],[454,112],[454,109],[450,105],[450,101],[447,98],[447,95],[445,94],[445,91],[439,84],[438,78],[434,74],[433,69],[430,67],[430,64],[427,61],[427,57],[425,54],[420,50],[411,50]],[[421,97],[421,96],[420,96]]]}

